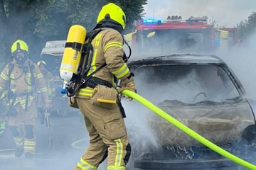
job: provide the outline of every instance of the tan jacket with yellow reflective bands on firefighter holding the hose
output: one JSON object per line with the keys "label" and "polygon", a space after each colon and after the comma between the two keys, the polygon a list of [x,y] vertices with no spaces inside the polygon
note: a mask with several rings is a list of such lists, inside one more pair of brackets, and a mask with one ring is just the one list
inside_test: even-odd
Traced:
{"label": "tan jacket with yellow reflective bands on firefighter holding the hose", "polygon": [[[117,30],[107,28],[98,33],[94,40],[92,40],[94,53],[87,75],[90,75],[106,63],[107,66],[93,74],[92,77],[105,80],[114,87],[116,86],[116,82],[114,81],[116,78],[121,79],[123,84],[132,81],[129,68],[122,59],[124,55],[123,44],[122,35]],[[93,89],[90,87],[81,88],[75,97],[90,98],[92,91]]]}

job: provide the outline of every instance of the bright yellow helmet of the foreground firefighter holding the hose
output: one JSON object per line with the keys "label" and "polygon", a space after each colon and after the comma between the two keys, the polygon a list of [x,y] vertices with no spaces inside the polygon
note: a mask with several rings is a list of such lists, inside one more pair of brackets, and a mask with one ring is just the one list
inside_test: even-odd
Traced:
{"label": "bright yellow helmet of the foreground firefighter holding the hose", "polygon": [[100,10],[99,16],[97,18],[97,24],[100,23],[100,21],[107,20],[112,20],[119,23],[124,30],[126,25],[126,16],[124,14],[124,11],[122,11],[122,8],[120,8],[116,4],[107,4],[103,6]]}

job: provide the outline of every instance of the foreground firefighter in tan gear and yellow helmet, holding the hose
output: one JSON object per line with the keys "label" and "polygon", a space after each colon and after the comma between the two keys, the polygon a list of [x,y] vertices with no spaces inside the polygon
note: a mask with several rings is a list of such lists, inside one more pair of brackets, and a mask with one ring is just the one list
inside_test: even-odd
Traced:
{"label": "foreground firefighter in tan gear and yellow helmet, holding the hose", "polygon": [[[102,29],[92,40],[94,56],[87,76],[92,77],[80,87],[75,100],[90,135],[90,145],[74,170],[95,170],[106,157],[107,169],[125,169],[131,154],[131,146],[124,124],[122,107],[111,103],[94,103],[91,96],[108,96],[114,94],[110,89],[116,87],[117,79],[122,81],[122,88],[135,91],[134,74],[129,72],[122,59],[124,55],[122,31],[125,28],[126,16],[122,8],[115,4],[102,7],[94,30]],[[117,79],[116,79],[117,78]],[[99,89],[99,85],[101,89]],[[101,91],[101,92],[100,92]],[[95,94],[96,93],[96,94]],[[116,91],[117,93],[117,91]],[[117,100],[117,94],[114,94]]]}

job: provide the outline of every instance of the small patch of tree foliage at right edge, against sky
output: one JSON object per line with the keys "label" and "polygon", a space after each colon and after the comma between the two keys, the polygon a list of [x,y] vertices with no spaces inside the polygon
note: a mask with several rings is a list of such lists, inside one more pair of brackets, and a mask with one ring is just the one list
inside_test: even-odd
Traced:
{"label": "small patch of tree foliage at right edge, against sky", "polygon": [[241,21],[238,25],[238,37],[240,40],[246,40],[256,31],[256,12],[252,12],[247,20]]}

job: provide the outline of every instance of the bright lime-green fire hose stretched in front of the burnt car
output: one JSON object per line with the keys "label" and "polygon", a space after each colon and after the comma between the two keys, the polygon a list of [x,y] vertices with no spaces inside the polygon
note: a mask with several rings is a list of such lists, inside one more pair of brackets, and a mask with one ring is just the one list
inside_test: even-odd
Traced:
{"label": "bright lime-green fire hose stretched in front of the burnt car", "polygon": [[241,166],[245,166],[247,169],[254,169],[256,170],[256,166],[254,164],[250,164],[249,162],[245,162],[245,160],[240,159],[239,157],[236,157],[233,154],[230,154],[229,152],[225,151],[224,149],[218,147],[217,145],[213,144],[209,140],[206,140],[206,138],[202,137],[195,131],[191,130],[190,128],[186,127],[186,125],[183,125],[180,123],[178,120],[175,118],[171,117],[171,115],[165,113],[162,111],[160,108],[154,106],[153,103],[147,101],[145,98],[142,96],[139,96],[138,94],[135,94],[132,91],[124,90],[122,91],[122,94],[127,95],[131,98],[134,98],[136,101],[139,101],[139,103],[142,103],[144,106],[149,108],[151,111],[154,111],[157,115],[161,116],[161,118],[164,118],[167,120],[169,123],[175,125],[178,129],[182,130],[183,132],[186,132],[186,134],[190,135],[193,137],[195,140],[198,142],[201,142],[203,145],[206,147],[209,147],[210,149],[213,149],[213,151],[217,152],[218,154],[221,154],[223,157],[226,157],[230,159],[231,161],[240,164]]}

